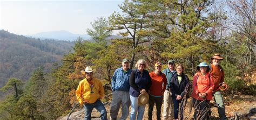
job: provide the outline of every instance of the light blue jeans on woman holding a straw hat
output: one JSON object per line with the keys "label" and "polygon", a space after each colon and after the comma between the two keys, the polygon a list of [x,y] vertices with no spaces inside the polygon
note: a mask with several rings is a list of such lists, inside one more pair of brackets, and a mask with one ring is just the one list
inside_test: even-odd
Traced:
{"label": "light blue jeans on woman holding a straw hat", "polygon": [[138,105],[138,97],[133,97],[133,96],[130,95],[130,100],[131,100],[131,115],[130,115],[130,119],[131,120],[135,120],[137,112],[138,112],[137,119],[138,120],[142,120],[146,105],[139,106]]}

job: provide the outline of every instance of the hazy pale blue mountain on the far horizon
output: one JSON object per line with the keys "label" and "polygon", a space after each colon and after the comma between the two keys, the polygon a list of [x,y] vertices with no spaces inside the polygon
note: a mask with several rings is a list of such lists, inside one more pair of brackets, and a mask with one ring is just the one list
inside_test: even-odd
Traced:
{"label": "hazy pale blue mountain on the far horizon", "polygon": [[36,34],[27,35],[27,37],[40,38],[40,39],[55,39],[55,40],[66,40],[75,41],[78,37],[83,39],[91,39],[87,34],[73,34],[69,31],[50,31],[50,32],[39,32]]}

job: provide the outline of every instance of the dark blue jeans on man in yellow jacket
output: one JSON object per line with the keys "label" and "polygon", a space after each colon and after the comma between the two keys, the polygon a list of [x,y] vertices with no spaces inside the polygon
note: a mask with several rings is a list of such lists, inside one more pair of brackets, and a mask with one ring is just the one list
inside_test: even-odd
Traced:
{"label": "dark blue jeans on man in yellow jacket", "polygon": [[92,113],[93,108],[96,108],[96,110],[98,110],[100,112],[100,117],[102,119],[104,119],[104,120],[107,119],[107,112],[104,107],[104,104],[100,100],[97,100],[95,103],[84,104],[84,112],[85,112],[84,119],[85,120],[91,119],[91,113]]}

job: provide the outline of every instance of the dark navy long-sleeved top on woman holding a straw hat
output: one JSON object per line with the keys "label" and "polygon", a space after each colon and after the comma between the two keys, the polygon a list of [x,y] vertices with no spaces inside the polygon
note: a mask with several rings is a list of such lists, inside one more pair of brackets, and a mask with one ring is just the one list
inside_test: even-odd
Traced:
{"label": "dark navy long-sleeved top on woman holding a straw hat", "polygon": [[145,89],[148,91],[151,87],[151,77],[147,70],[143,70],[142,75],[140,75],[138,69],[134,69],[130,75],[130,95],[133,97],[138,97],[140,95],[140,90]]}

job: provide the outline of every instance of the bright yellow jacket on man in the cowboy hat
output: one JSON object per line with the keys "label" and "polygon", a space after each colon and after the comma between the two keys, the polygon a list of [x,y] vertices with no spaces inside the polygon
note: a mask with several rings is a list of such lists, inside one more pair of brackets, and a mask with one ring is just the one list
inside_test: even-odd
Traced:
{"label": "bright yellow jacket on man in the cowboy hat", "polygon": [[86,78],[79,82],[76,90],[76,96],[80,104],[83,103],[83,100],[87,101],[87,103],[95,103],[98,99],[103,98],[104,88],[102,86],[102,82],[94,77],[91,82],[93,83],[92,89]]}

